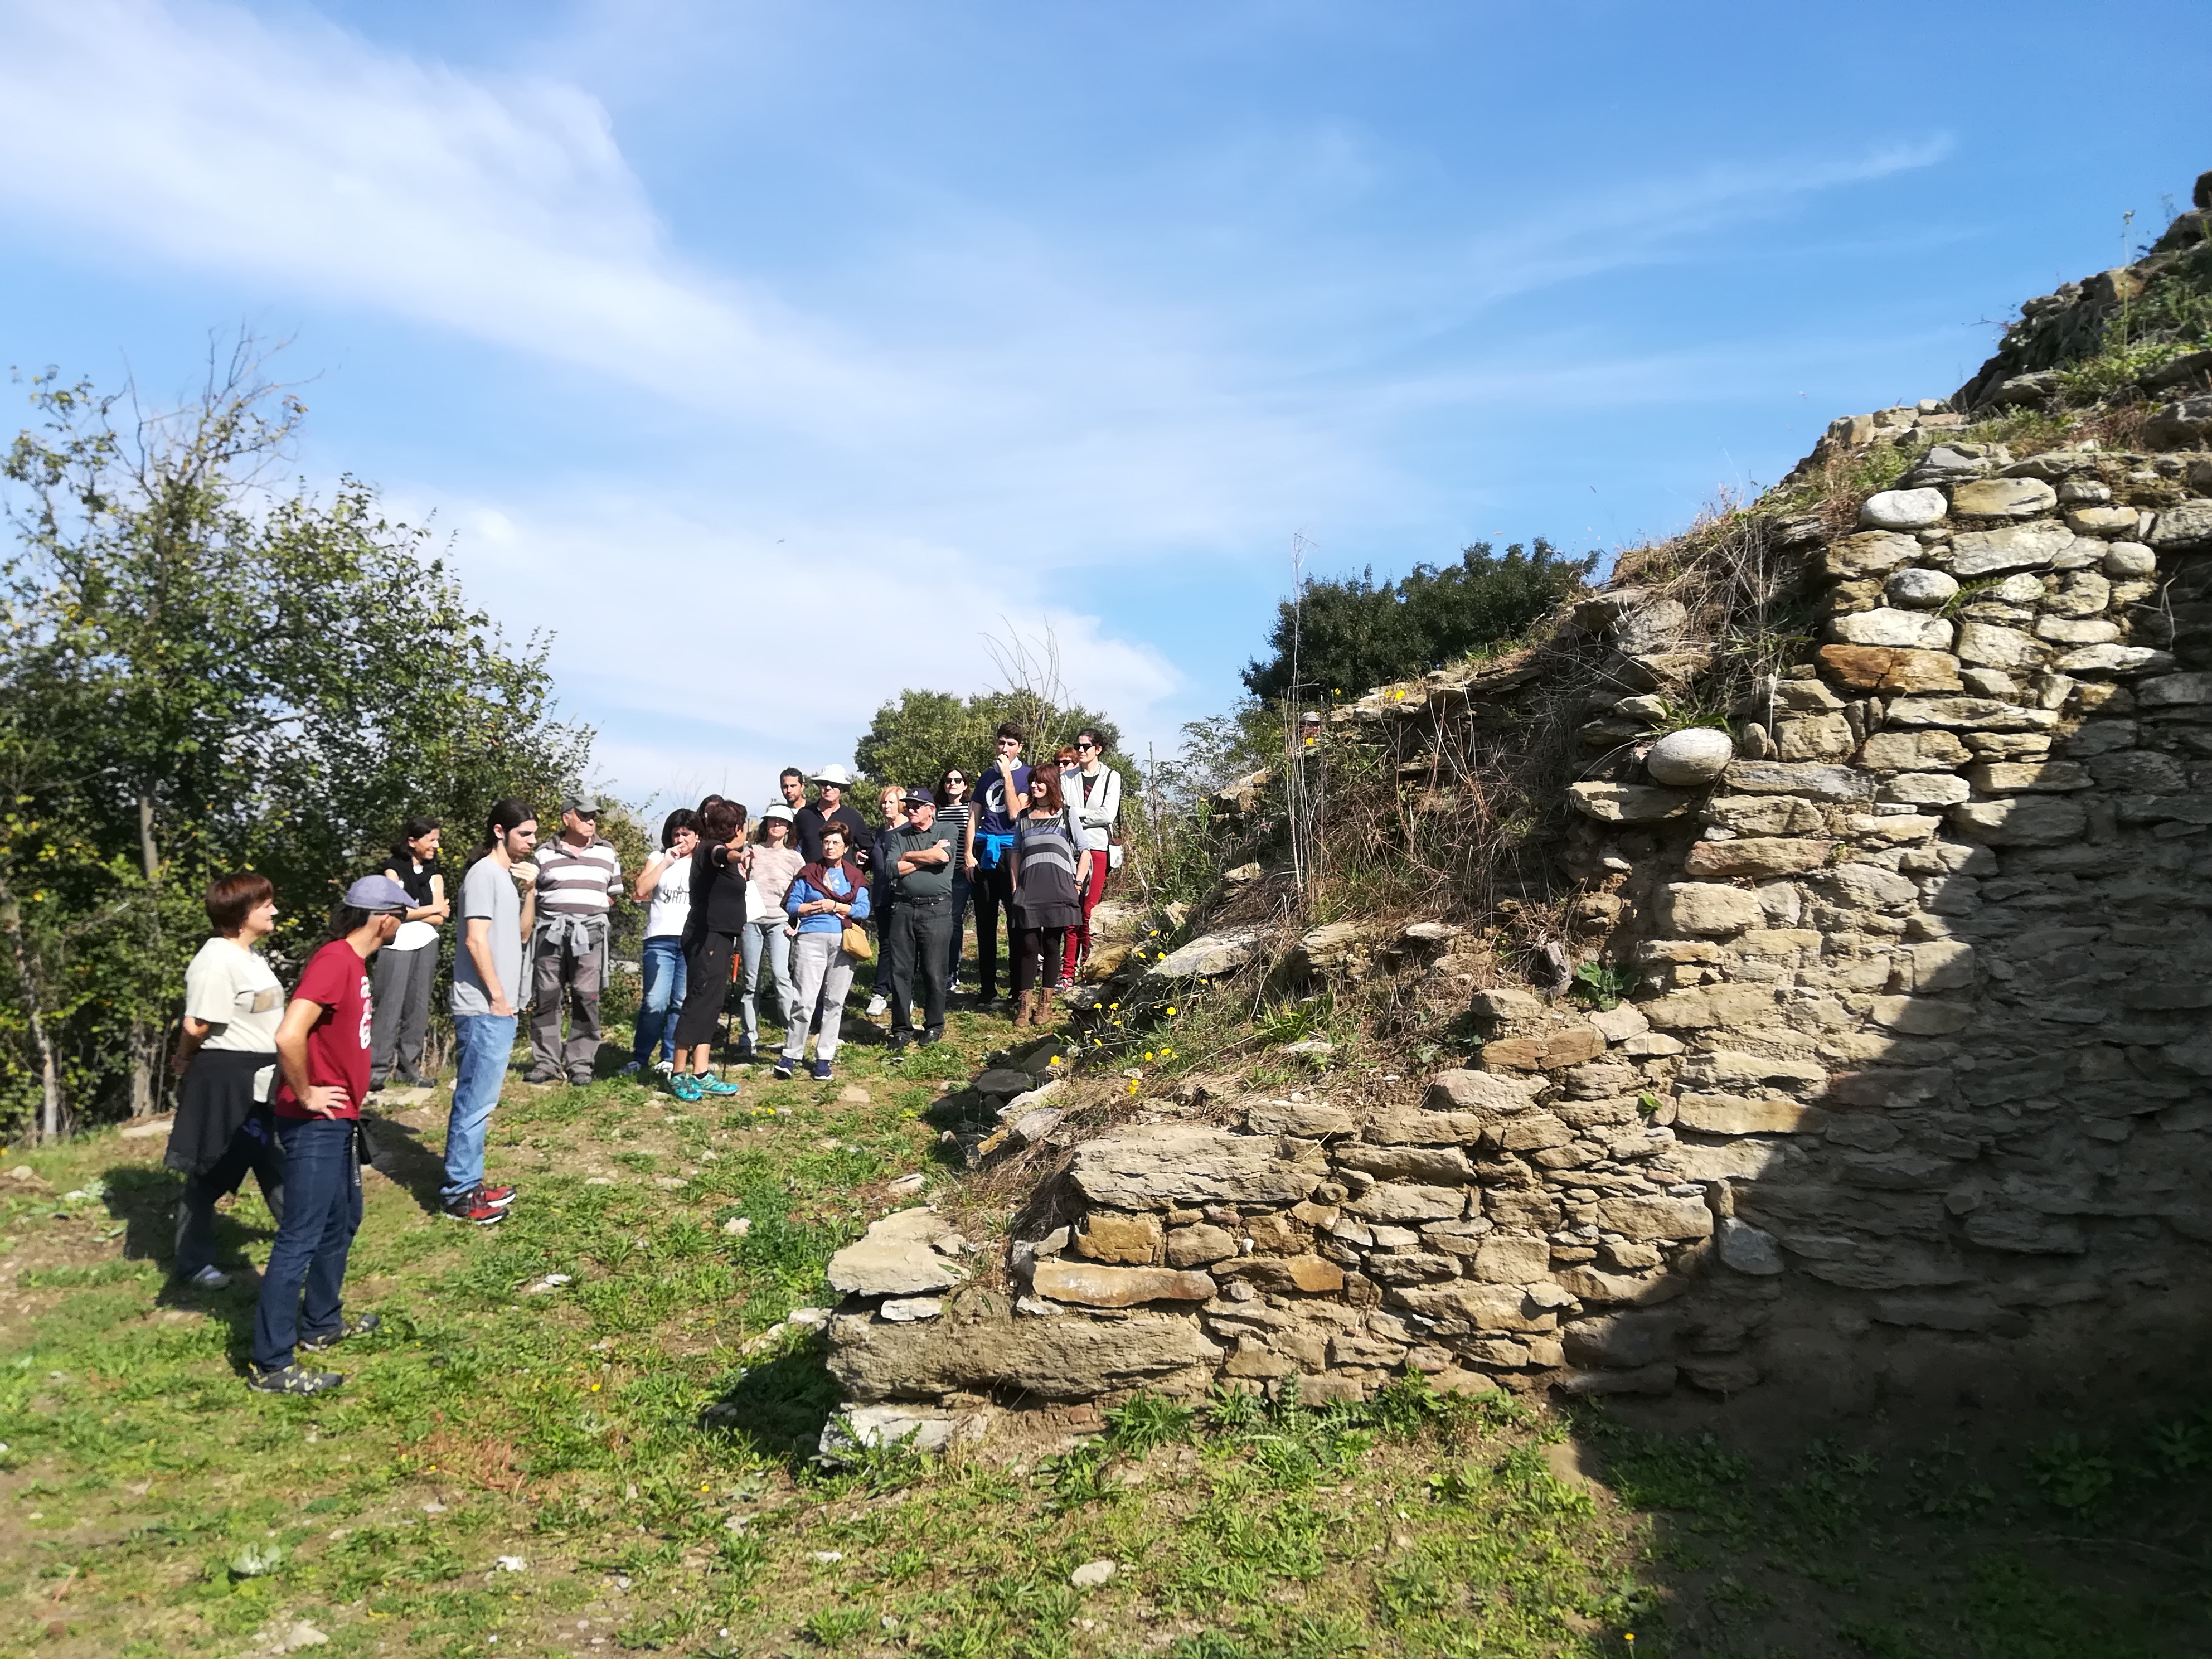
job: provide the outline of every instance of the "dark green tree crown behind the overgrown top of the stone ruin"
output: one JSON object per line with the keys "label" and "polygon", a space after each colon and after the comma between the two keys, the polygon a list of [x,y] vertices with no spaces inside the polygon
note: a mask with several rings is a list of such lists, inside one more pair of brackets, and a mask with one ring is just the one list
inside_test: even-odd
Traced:
{"label": "dark green tree crown behind the overgrown top of the stone ruin", "polygon": [[1374,568],[1310,577],[1303,606],[1285,599],[1276,611],[1267,637],[1274,655],[1248,664],[1243,681],[1261,699],[1358,697],[1513,639],[1595,568],[1597,553],[1568,560],[1540,535],[1533,546],[1513,542],[1502,555],[1475,542],[1458,564],[1416,564],[1400,582],[1376,582]]}

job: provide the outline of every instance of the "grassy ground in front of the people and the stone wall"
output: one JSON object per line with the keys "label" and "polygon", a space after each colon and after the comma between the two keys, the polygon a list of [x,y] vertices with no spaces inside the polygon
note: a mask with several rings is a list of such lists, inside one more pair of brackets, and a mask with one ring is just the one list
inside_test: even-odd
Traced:
{"label": "grassy ground in front of the people and the stone wall", "polygon": [[[319,1400],[241,1387],[250,1274],[166,1281],[159,1139],[9,1157],[46,1190],[0,1177],[0,1650],[274,1652],[305,1621],[332,1655],[2212,1652],[2208,1420],[1995,1473],[1754,1464],[1402,1387],[816,1469],[834,1391],[781,1321],[911,1201],[889,1181],[951,1197],[914,1073],[1004,1035],[956,1015],[929,1062],[852,1046],[836,1084],[719,1104],[511,1084],[491,1172],[524,1197],[489,1232],[427,1208],[442,1097],[394,1119],[349,1281],[385,1329]],[[226,1241],[265,1256],[257,1197]]]}

